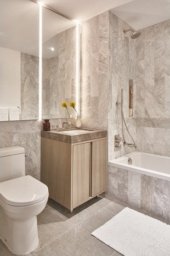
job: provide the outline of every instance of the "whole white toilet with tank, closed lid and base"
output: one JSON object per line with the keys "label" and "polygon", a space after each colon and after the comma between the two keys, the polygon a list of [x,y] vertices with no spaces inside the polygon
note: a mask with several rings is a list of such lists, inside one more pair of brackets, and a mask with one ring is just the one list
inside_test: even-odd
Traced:
{"label": "whole white toilet with tank, closed lid and base", "polygon": [[36,248],[37,215],[47,201],[48,187],[25,175],[25,149],[0,148],[0,238],[12,253]]}

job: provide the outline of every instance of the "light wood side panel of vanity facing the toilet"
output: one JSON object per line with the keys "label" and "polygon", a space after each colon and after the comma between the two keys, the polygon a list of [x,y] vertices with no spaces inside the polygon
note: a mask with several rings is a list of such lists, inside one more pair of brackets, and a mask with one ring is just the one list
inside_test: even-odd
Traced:
{"label": "light wood side panel of vanity facing the toilet", "polygon": [[41,147],[41,181],[49,198],[71,209],[71,144],[42,138]]}

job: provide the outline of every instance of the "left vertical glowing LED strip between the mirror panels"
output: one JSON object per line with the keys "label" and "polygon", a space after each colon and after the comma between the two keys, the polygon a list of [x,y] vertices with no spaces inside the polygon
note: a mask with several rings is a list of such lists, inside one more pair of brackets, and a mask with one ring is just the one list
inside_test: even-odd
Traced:
{"label": "left vertical glowing LED strip between the mirror panels", "polygon": [[42,119],[42,4],[39,5],[39,120]]}

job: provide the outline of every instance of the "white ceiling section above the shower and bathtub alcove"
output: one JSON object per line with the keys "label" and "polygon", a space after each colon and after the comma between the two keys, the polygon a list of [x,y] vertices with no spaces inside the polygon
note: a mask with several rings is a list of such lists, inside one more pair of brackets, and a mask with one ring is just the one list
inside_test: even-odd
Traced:
{"label": "white ceiling section above the shower and bathtub alcove", "polygon": [[138,30],[170,19],[170,0],[135,0],[111,11]]}

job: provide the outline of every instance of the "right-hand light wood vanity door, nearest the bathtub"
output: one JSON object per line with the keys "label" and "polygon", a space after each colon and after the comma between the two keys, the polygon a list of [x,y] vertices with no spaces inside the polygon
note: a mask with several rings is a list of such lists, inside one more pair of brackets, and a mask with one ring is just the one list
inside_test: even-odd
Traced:
{"label": "right-hand light wood vanity door, nearest the bathtub", "polygon": [[92,142],[92,197],[106,188],[106,139]]}

